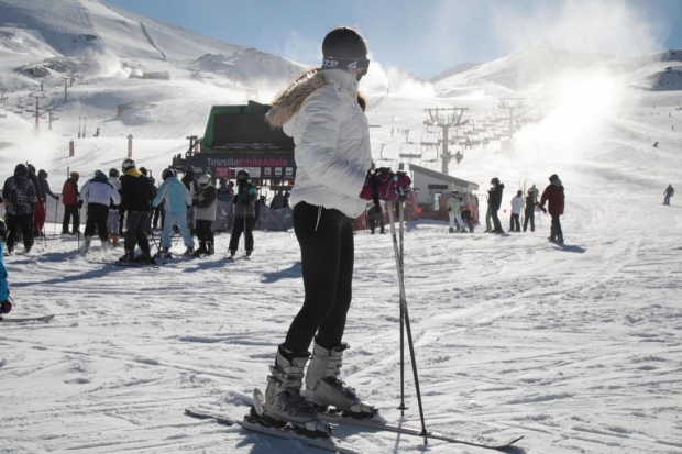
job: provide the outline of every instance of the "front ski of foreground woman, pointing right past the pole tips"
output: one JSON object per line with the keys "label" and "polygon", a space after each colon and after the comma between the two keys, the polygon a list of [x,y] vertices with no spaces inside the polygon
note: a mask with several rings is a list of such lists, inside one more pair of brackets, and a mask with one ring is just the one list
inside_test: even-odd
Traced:
{"label": "front ski of foreground woman, pointing right past the pole tips", "polygon": [[[420,429],[387,424],[376,419],[355,419],[352,417],[344,417],[341,413],[329,413],[329,412],[320,412],[318,414],[321,420],[331,422],[334,424],[361,425],[361,427],[376,429],[376,430],[402,433],[405,435],[424,436],[424,433],[421,432]],[[430,432],[430,431],[427,432],[427,436],[433,440],[441,440],[441,441],[446,441],[449,443],[466,444],[470,446],[483,447],[486,450],[505,450],[524,438],[524,435],[519,435],[519,436],[509,439],[506,442],[499,443],[499,442],[487,442],[483,440],[468,439],[464,436],[450,435],[450,434]]]}

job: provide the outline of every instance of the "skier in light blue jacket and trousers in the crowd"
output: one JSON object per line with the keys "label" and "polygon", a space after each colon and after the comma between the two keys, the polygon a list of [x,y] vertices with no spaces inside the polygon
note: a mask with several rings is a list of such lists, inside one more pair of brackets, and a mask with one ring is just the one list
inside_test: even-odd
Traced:
{"label": "skier in light blue jacket and trousers in the crowd", "polygon": [[175,223],[180,229],[180,235],[183,235],[185,247],[187,247],[185,255],[191,255],[195,250],[195,241],[187,228],[187,207],[191,207],[191,196],[187,187],[177,179],[177,173],[174,169],[165,169],[161,178],[164,182],[158,187],[156,197],[152,202],[154,207],[158,207],[165,200],[166,219],[161,234],[160,256],[163,258],[170,257],[170,232]]}

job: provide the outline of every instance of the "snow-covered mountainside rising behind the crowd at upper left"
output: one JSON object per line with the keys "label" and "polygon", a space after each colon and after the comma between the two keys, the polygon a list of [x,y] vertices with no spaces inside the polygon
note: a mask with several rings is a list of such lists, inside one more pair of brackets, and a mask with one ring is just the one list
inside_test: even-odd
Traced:
{"label": "snow-covered mountainside rising behind the crowd at upper left", "polygon": [[[201,134],[211,104],[267,101],[302,69],[97,0],[0,0],[0,55],[8,111],[30,118],[30,96],[43,88],[43,107],[62,111],[59,129],[75,134],[81,117],[107,136],[163,136],[180,109],[196,115],[178,135]],[[136,108],[120,119],[128,104]]]}

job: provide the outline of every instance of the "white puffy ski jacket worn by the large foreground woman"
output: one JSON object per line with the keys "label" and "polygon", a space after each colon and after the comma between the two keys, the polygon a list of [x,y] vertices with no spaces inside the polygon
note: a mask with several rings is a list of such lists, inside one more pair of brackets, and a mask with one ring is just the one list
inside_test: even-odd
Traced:
{"label": "white puffy ski jacket worn by the large foreground woman", "polygon": [[350,218],[362,214],[367,202],[360,192],[372,166],[372,151],[355,76],[330,69],[296,82],[268,112],[272,124],[278,125],[277,118],[286,119],[284,132],[296,144],[292,204],[305,201]]}

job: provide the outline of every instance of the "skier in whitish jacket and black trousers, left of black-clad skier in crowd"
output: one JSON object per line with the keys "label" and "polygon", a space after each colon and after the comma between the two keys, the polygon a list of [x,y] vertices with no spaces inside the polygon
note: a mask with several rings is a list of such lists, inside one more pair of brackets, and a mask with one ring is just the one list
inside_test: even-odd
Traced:
{"label": "skier in whitish jacket and black trousers, left of black-clad skier in crowd", "polygon": [[95,177],[80,189],[80,196],[78,196],[78,209],[82,207],[84,200],[88,200],[88,217],[85,230],[85,247],[84,254],[88,253],[90,243],[92,242],[92,235],[95,234],[95,225],[97,225],[97,232],[99,240],[102,244],[102,251],[107,251],[108,237],[107,237],[107,221],[109,220],[109,206],[121,203],[121,197],[119,190],[113,186],[107,175],[101,170],[95,170]]}

